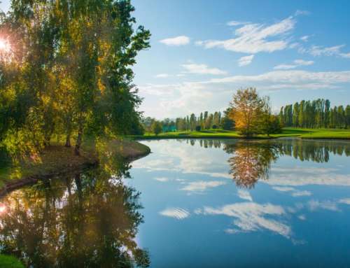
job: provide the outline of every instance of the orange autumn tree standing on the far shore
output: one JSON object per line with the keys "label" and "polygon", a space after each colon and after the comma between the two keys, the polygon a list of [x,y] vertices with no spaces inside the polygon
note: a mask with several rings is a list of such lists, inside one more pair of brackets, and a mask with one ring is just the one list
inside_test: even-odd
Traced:
{"label": "orange autumn tree standing on the far shore", "polygon": [[266,102],[255,88],[237,90],[230,103],[230,119],[235,121],[238,132],[251,137],[260,132],[260,122],[265,112]]}

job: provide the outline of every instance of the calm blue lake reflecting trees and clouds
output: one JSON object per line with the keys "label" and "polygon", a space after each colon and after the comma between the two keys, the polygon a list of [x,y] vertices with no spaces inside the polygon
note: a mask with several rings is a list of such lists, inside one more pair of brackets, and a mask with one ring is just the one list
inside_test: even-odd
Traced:
{"label": "calm blue lake reflecting trees and clouds", "polygon": [[350,266],[348,141],[142,142],[131,166],[2,197],[1,251],[33,267]]}

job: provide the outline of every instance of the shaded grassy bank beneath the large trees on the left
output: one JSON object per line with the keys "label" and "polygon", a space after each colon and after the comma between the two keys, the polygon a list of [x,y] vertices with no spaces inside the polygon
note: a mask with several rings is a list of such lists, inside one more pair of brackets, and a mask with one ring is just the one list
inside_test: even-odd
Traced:
{"label": "shaded grassy bank beneath the large trees on the left", "polygon": [[[0,195],[27,183],[34,183],[40,178],[69,174],[82,171],[99,164],[96,144],[85,142],[80,156],[74,155],[73,146],[53,143],[43,150],[38,160],[28,157],[20,163],[0,169]],[[144,144],[130,139],[114,139],[104,142],[104,153],[113,153],[123,160],[132,161],[151,152]],[[108,150],[108,152],[106,152]]]}

